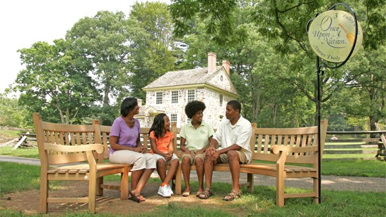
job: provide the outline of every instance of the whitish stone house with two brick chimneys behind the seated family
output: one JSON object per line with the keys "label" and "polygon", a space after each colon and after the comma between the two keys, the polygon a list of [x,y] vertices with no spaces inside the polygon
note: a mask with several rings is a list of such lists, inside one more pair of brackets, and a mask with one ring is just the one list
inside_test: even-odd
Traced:
{"label": "whitish stone house with two brick chimneys behind the seated family", "polygon": [[[203,120],[216,129],[225,116],[228,101],[237,99],[238,93],[230,80],[230,62],[216,65],[216,54],[209,52],[207,68],[167,72],[149,85],[146,105],[141,105],[135,117],[141,127],[151,127],[156,114],[165,113],[172,123],[182,127],[189,118],[185,115],[185,105],[194,100],[205,103]],[[139,101],[141,104],[141,101]]]}

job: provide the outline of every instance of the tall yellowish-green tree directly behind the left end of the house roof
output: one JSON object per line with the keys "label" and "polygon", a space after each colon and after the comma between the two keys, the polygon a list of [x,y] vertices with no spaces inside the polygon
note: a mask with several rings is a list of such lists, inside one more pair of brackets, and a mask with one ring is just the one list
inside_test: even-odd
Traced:
{"label": "tall yellowish-green tree directly behind the left end of the house roof", "polygon": [[139,49],[132,53],[130,85],[133,96],[145,99],[142,88],[176,68],[174,55],[179,50],[166,3],[136,2],[130,11],[130,20],[141,28],[141,35],[135,39]]}

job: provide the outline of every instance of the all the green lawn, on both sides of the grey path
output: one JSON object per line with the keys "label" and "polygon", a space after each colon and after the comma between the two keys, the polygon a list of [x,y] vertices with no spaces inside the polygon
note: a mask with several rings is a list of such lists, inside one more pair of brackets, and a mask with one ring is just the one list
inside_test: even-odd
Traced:
{"label": "all the green lawn, on both sides of the grey path", "polygon": [[[0,155],[39,158],[37,149],[6,146],[0,148]],[[12,176],[14,171],[22,171]],[[20,163],[4,163],[0,165],[0,196],[10,192],[23,192],[28,189],[39,189],[39,166]],[[369,176],[386,177],[386,163],[383,161],[329,161],[322,163],[323,175],[336,176]],[[119,176],[107,176],[106,181],[118,181]],[[153,178],[150,182],[159,182]],[[52,188],[59,182],[52,182]],[[196,189],[198,183],[192,182]],[[276,207],[276,190],[274,187],[255,186],[253,194],[245,193],[239,200],[225,203],[221,200],[230,189],[230,184],[214,183],[215,195],[207,205],[173,202],[156,205],[154,211],[143,211],[136,216],[385,216],[385,192],[349,192],[327,191],[322,193],[322,203],[314,205],[311,198],[290,198],[285,200],[285,207]],[[303,192],[304,189],[286,189],[287,192]],[[247,192],[243,189],[243,192]],[[0,205],[1,205],[0,200]],[[210,201],[215,201],[211,203]],[[1,208],[1,206],[0,206]],[[130,211],[128,211],[130,213]],[[0,216],[29,216],[10,207],[0,209]],[[46,215],[35,215],[46,216]],[[63,216],[116,216],[113,214],[88,214],[85,211],[71,210]],[[128,216],[128,215],[125,215]],[[130,216],[130,215],[129,215]]]}

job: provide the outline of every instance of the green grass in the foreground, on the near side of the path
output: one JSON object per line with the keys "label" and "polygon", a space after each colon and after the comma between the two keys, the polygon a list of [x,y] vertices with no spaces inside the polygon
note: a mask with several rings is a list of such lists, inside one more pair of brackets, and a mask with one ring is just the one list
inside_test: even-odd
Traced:
{"label": "green grass in the foreground, on the near side of the path", "polygon": [[[12,178],[14,169],[19,169],[25,174],[20,178]],[[5,192],[25,191],[26,189],[39,189],[39,166],[21,165],[19,163],[1,163],[0,186]],[[4,180],[3,177],[10,177]],[[119,176],[112,176],[119,178]],[[158,178],[150,181],[159,182]],[[3,185],[3,182],[12,182],[12,185]],[[198,183],[192,181],[192,188],[196,189]],[[183,200],[174,200],[170,203],[159,203],[156,208],[143,209],[141,214],[130,215],[128,202],[128,214],[124,216],[385,216],[385,192],[350,192],[350,191],[328,191],[322,192],[322,203],[315,205],[312,198],[289,198],[285,200],[284,207],[275,205],[275,187],[255,186],[252,194],[245,193],[232,202],[221,200],[227,194],[230,184],[214,183],[214,196],[205,203],[184,203]],[[54,187],[53,187],[54,188]],[[286,192],[305,192],[305,189],[287,188]],[[243,188],[243,192],[247,192]],[[156,194],[154,192],[154,194]],[[1,196],[1,200],[4,200]],[[0,208],[1,208],[0,200]],[[198,199],[197,199],[198,200]],[[145,202],[150,203],[150,202]],[[89,214],[82,210],[68,210],[59,216],[118,216],[114,214]],[[0,209],[0,216],[30,216],[21,211],[15,211],[12,207]],[[48,216],[48,215],[33,215]]]}

